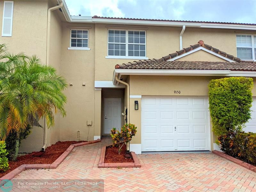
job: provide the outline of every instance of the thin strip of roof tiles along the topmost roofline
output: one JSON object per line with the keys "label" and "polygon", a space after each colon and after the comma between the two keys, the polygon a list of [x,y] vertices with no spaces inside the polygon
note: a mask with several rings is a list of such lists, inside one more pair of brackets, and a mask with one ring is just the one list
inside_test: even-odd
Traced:
{"label": "thin strip of roof tiles along the topmost roofline", "polygon": [[122,17],[100,17],[100,16],[97,16],[97,15],[94,15],[92,18],[93,19],[118,19],[118,20],[186,22],[186,23],[213,23],[213,24],[233,24],[233,25],[256,25],[255,23],[232,23],[232,22],[215,22],[215,21],[165,20],[165,19],[139,19],[139,18],[122,18]]}

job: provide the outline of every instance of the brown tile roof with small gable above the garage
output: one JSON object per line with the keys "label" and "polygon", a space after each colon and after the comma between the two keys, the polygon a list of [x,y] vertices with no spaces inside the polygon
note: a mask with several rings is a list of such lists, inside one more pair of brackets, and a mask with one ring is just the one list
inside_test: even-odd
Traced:
{"label": "brown tile roof with small gable above the garage", "polygon": [[[210,62],[210,61],[168,61],[171,58],[175,58],[186,52],[190,52],[198,47],[204,47],[215,53],[218,53],[228,59],[235,62]],[[116,69],[190,69],[190,70],[231,70],[231,71],[256,71],[256,61],[244,61],[233,55],[229,55],[226,52],[220,51],[212,47],[211,45],[204,44],[204,41],[200,40],[195,45],[190,45],[180,51],[171,53],[160,59],[148,59],[129,62],[126,64],[116,65]]]}

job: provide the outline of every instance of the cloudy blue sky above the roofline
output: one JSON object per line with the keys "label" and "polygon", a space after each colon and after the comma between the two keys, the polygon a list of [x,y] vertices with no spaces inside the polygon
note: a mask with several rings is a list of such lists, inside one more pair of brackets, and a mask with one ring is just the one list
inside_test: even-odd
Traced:
{"label": "cloudy blue sky above the roofline", "polygon": [[65,0],[71,15],[256,23],[256,0]]}

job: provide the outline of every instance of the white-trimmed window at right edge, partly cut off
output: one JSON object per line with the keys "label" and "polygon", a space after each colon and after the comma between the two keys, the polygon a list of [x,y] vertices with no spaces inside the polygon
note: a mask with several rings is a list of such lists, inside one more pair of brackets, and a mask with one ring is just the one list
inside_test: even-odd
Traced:
{"label": "white-trimmed window at right edge, partly cut off", "polygon": [[236,35],[236,54],[242,60],[256,60],[256,36]]}

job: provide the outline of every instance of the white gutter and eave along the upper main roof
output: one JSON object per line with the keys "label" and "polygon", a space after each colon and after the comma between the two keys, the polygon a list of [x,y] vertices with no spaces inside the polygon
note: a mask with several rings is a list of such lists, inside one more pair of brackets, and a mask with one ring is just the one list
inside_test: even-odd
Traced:
{"label": "white gutter and eave along the upper main roof", "polygon": [[191,22],[168,22],[168,21],[148,21],[148,20],[124,20],[124,19],[102,19],[92,18],[92,16],[71,16],[68,6],[64,0],[57,0],[58,3],[63,2],[61,8],[65,19],[68,22],[79,23],[108,23],[122,25],[153,25],[153,26],[170,26],[170,27],[200,27],[200,28],[224,28],[224,29],[241,29],[256,30],[255,25],[237,25],[237,24],[218,24],[218,23],[191,23]]}

